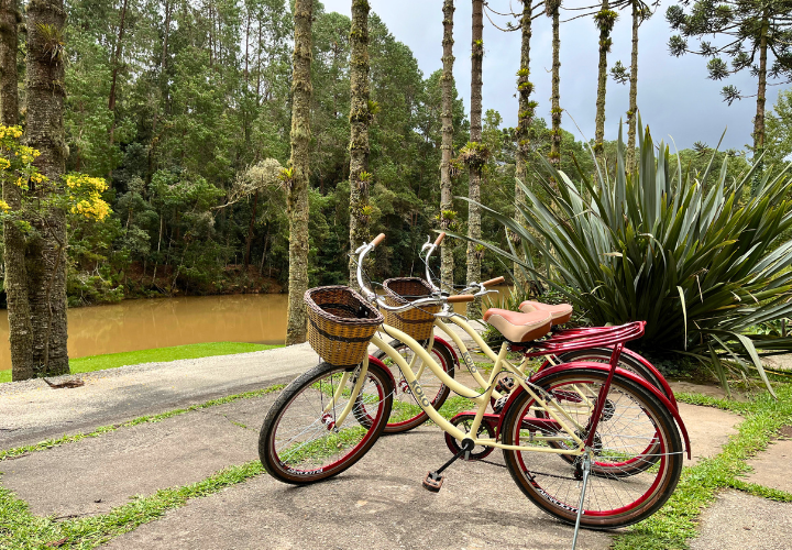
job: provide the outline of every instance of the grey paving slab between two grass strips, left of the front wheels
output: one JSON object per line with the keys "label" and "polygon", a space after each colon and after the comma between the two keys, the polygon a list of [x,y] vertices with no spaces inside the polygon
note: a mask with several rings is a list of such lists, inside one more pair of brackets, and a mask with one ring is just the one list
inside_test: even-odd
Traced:
{"label": "grey paving slab between two grass strips, left of the front wheels", "polygon": [[33,514],[103,514],[135,495],[199,482],[256,460],[258,429],[277,394],[121,428],[0,462],[2,484]]}

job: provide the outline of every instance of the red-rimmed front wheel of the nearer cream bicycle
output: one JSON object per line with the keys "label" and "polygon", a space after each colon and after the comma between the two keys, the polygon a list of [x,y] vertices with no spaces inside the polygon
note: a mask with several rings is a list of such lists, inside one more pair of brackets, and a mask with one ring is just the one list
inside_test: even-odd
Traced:
{"label": "red-rimmed front wheel of the nearer cream bicycle", "polygon": [[[393,382],[384,369],[370,362],[353,397],[361,372],[362,365],[321,363],[283,391],[258,436],[258,458],[270,475],[296,485],[315,483],[363,458],[391,415]],[[337,425],[351,398],[353,410]]]}

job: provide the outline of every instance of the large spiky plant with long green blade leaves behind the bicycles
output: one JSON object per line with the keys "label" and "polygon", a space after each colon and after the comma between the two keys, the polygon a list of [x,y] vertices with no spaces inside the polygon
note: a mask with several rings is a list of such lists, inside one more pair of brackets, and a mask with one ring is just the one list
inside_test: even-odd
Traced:
{"label": "large spiky plant with long green blade leaves behind the bicycles", "polygon": [[752,365],[770,388],[757,349],[790,351],[792,338],[747,329],[792,314],[792,242],[780,242],[792,226],[787,177],[766,176],[751,189],[756,168],[728,182],[727,158],[719,172],[711,161],[700,175],[679,161],[672,166],[663,142],[657,157],[654,151],[647,127],[626,175],[619,132],[615,179],[600,167],[593,180],[581,172],[578,185],[542,160],[558,188],[539,180],[551,198],[546,205],[519,183],[529,205],[517,208],[528,227],[484,207],[549,270],[527,263],[510,242],[509,251],[483,244],[564,294],[594,323],[648,321],[644,348],[712,365],[727,391],[723,361]]}

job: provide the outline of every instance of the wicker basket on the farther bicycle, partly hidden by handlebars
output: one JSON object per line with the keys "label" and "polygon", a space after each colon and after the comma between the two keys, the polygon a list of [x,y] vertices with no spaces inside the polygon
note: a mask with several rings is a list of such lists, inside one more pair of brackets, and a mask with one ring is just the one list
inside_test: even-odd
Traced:
{"label": "wicker basket on the farther bicycle, partly hidden by handlebars", "polygon": [[[431,296],[431,287],[418,277],[389,278],[383,283],[385,287],[385,304],[388,306],[404,306],[420,298]],[[440,305],[421,306],[407,311],[394,314],[385,311],[385,324],[389,324],[402,332],[406,332],[416,340],[428,340],[432,334],[435,315],[440,311]]]}

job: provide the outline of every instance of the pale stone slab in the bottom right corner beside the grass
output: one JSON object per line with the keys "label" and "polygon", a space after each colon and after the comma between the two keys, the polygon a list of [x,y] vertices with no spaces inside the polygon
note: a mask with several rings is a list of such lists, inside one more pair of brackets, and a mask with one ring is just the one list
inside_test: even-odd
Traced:
{"label": "pale stone slab in the bottom right corner beside the grass", "polygon": [[718,495],[702,515],[691,550],[790,550],[792,504],[777,503],[737,491]]}

